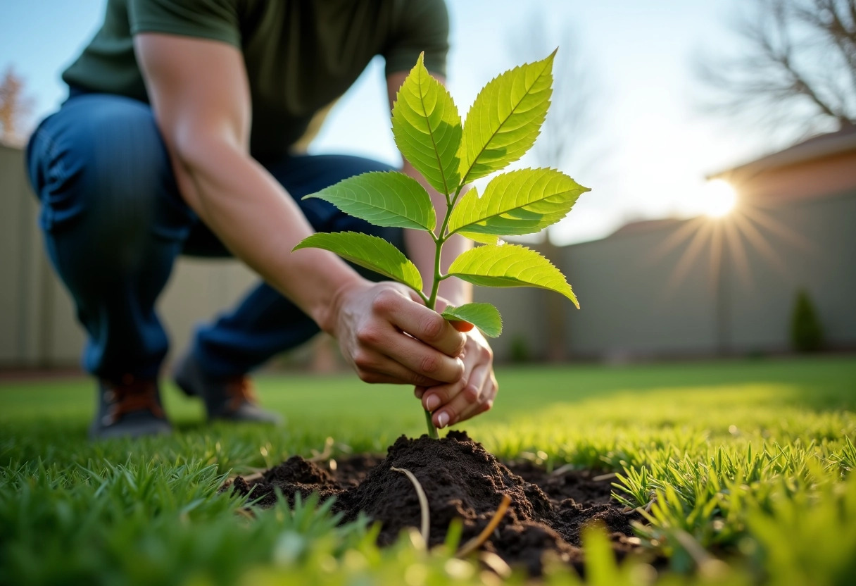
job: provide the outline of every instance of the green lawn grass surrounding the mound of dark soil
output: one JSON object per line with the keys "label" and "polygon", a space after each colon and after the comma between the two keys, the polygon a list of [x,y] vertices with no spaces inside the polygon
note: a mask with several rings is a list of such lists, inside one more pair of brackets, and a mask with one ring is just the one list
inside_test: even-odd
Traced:
{"label": "green lawn grass surrounding the mound of dark soil", "polygon": [[[615,494],[650,506],[639,529],[668,557],[658,583],[856,583],[856,358],[504,369],[495,410],[466,425],[500,457],[616,471]],[[0,383],[0,583],[496,582],[478,565],[377,550],[367,523],[316,503],[256,518],[223,479],[310,455],[383,451],[423,433],[404,387],[353,377],[263,376],[284,428],[205,426],[164,390],[177,432],[90,443],[88,380]],[[653,502],[652,502],[653,501]],[[417,543],[418,545],[418,543]],[[589,581],[650,583],[588,535]],[[577,583],[556,570],[549,583]],[[522,583],[515,574],[508,583]]]}

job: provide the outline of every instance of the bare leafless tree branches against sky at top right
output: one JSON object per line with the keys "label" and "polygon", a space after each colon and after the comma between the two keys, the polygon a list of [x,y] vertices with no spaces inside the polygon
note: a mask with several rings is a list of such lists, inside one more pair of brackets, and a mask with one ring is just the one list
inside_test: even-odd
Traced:
{"label": "bare leafless tree branches against sky at top right", "polygon": [[856,123],[856,0],[753,0],[735,32],[699,63],[706,105],[790,138]]}

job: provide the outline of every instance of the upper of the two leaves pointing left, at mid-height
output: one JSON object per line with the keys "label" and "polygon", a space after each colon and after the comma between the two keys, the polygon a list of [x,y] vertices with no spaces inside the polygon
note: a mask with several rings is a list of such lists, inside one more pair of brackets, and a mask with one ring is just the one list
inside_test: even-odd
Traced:
{"label": "upper of the two leaves pointing left, at mid-height", "polygon": [[303,199],[329,201],[376,226],[434,230],[437,218],[431,197],[419,182],[396,171],[372,171],[349,177]]}

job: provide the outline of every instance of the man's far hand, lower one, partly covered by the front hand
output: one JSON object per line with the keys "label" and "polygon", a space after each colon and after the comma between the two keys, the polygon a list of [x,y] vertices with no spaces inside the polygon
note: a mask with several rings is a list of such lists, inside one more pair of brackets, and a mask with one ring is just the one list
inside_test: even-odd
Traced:
{"label": "man's far hand, lower one, partly covered by the front hand", "polygon": [[464,345],[464,374],[461,380],[435,386],[417,386],[415,394],[422,399],[431,421],[445,428],[489,410],[496,398],[493,375],[493,351],[478,329],[467,332]]}

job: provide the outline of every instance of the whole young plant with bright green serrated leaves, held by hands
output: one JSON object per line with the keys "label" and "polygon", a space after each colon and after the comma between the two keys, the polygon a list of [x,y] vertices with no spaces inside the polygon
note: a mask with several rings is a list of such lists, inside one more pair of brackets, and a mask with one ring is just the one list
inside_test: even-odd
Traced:
{"label": "whole young plant with bright green serrated leaves, held by hands", "polygon": [[[556,266],[529,248],[503,243],[500,237],[533,234],[555,224],[588,188],[555,169],[522,169],[495,176],[480,196],[475,188],[463,193],[469,182],[502,170],[532,147],[550,106],[555,55],[556,51],[490,81],[464,124],[449,92],[431,77],[419,56],[396,96],[392,130],[401,154],[445,195],[439,229],[431,196],[415,179],[398,172],[364,173],[306,196],[329,201],[371,224],[428,232],[436,254],[427,294],[419,269],[383,238],[356,232],[318,233],[294,249],[330,250],[406,284],[431,309],[436,306],[440,282],[449,277],[489,287],[553,290],[579,308],[574,291]],[[484,246],[461,254],[444,274],[443,243],[455,234]],[[486,336],[502,332],[502,318],[489,303],[447,307],[442,315],[478,326]],[[425,419],[429,435],[437,438],[431,414],[426,412]]]}

